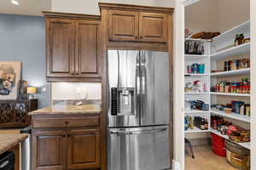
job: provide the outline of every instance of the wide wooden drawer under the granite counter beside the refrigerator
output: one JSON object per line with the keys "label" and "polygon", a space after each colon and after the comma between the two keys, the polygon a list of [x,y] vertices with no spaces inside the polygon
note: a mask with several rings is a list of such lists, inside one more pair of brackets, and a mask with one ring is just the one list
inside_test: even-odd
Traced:
{"label": "wide wooden drawer under the granite counter beside the refrigerator", "polygon": [[68,117],[68,118],[35,118],[32,121],[33,128],[49,127],[97,127],[100,125],[99,116]]}

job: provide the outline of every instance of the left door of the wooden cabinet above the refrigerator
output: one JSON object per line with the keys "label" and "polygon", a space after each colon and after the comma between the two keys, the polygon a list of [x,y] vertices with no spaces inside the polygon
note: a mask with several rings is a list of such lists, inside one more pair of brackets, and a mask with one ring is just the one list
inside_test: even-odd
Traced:
{"label": "left door of the wooden cabinet above the refrigerator", "polygon": [[138,41],[137,12],[109,11],[109,40]]}

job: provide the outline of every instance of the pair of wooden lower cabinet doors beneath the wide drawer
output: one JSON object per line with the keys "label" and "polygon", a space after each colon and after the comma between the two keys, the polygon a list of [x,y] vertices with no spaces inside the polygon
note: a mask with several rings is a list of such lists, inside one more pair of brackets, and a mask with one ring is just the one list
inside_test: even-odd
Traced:
{"label": "pair of wooden lower cabinet doors beneath the wide drawer", "polygon": [[98,169],[99,129],[39,130],[32,133],[33,170]]}

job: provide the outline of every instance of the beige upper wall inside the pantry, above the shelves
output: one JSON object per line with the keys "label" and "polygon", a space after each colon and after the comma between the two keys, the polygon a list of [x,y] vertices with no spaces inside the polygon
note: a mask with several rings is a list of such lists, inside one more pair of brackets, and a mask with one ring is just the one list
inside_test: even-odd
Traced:
{"label": "beige upper wall inside the pantry, above the shelves", "polygon": [[185,27],[224,32],[250,19],[250,0],[201,0],[185,8]]}

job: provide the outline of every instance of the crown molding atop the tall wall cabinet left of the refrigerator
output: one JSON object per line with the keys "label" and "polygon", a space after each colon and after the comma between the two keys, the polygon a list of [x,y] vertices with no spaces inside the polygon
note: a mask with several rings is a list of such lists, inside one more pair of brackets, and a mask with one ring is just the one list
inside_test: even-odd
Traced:
{"label": "crown molding atop the tall wall cabinet left of the refrigerator", "polygon": [[68,19],[79,19],[79,20],[101,20],[100,15],[94,14],[73,14],[73,13],[60,13],[60,12],[51,12],[43,11],[44,17],[49,18],[68,18]]}

